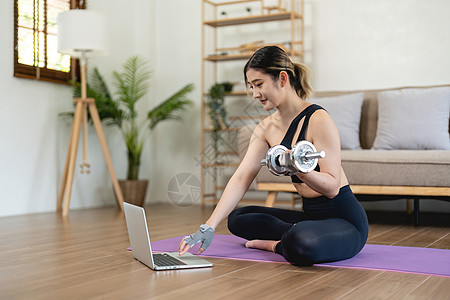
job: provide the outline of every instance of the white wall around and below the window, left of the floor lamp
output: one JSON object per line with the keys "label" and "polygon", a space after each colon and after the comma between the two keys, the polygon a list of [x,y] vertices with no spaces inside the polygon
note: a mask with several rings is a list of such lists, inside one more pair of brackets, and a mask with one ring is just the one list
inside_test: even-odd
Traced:
{"label": "white wall around and below the window, left of the floor lamp", "polygon": [[64,126],[57,113],[71,98],[62,85],[13,78],[13,3],[0,2],[0,215],[54,207]]}

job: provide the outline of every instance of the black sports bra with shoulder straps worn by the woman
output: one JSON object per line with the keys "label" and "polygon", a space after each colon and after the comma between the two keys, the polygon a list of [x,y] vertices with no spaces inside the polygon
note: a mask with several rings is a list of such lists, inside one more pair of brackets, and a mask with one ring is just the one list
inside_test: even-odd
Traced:
{"label": "black sports bra with shoulder straps worn by the woman", "polygon": [[[298,135],[297,142],[305,140],[306,136],[306,130],[308,129],[309,119],[311,118],[312,114],[318,110],[323,109],[323,107],[317,105],[317,104],[311,104],[304,110],[302,110],[298,116],[295,117],[295,119],[291,122],[289,125],[289,128],[286,132],[286,135],[284,136],[283,140],[281,141],[281,145],[285,146],[288,149],[292,148],[292,140],[294,139],[295,132],[297,132],[298,123],[300,123],[300,120],[305,117],[305,121],[303,122],[302,128],[300,129],[300,134]],[[320,168],[319,165],[314,169],[315,171],[319,172]],[[300,180],[300,178],[297,177],[297,175],[291,176],[292,182],[295,183],[302,183],[303,181]]]}

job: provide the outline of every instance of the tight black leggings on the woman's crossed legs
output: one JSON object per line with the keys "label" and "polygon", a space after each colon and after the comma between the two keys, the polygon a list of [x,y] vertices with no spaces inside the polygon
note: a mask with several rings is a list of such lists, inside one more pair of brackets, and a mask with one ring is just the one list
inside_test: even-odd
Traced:
{"label": "tight black leggings on the woman's crossed legs", "polygon": [[343,260],[356,255],[367,241],[367,216],[344,186],[333,199],[303,198],[303,212],[261,206],[234,210],[228,228],[247,240],[281,240],[275,252],[296,265]]}

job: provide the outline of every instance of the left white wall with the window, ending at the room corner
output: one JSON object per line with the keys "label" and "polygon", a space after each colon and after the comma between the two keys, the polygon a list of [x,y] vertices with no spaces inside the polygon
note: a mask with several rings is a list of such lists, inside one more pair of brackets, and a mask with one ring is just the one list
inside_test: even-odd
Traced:
{"label": "left white wall with the window, ending at the room corner", "polygon": [[[131,55],[150,60],[153,2],[92,0],[91,9],[108,17],[109,55],[91,59],[106,78]],[[118,21],[120,20],[120,21]],[[0,2],[0,216],[52,211],[61,185],[70,122],[58,117],[72,110],[72,89],[62,84],[13,77],[13,1]],[[142,36],[145,38],[143,39]],[[148,106],[148,98],[143,106]],[[126,152],[116,129],[105,128],[114,167],[126,175]],[[80,145],[81,146],[81,145]],[[89,127],[90,175],[80,175],[76,161],[71,208],[115,205],[111,180],[93,127]],[[145,174],[145,170],[143,172]]]}

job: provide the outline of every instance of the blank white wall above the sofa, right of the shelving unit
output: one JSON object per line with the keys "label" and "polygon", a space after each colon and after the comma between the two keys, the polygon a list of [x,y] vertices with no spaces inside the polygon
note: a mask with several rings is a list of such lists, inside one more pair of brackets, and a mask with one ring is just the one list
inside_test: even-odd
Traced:
{"label": "blank white wall above the sofa, right of the shelving unit", "polygon": [[318,90],[450,82],[446,0],[309,0],[309,63]]}

